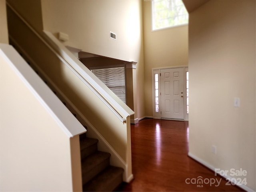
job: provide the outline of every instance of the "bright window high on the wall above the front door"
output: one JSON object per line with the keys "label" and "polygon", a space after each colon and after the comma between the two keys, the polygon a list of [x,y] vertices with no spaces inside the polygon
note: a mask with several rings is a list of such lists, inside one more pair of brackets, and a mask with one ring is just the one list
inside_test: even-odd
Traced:
{"label": "bright window high on the wall above the front door", "polygon": [[182,0],[152,0],[152,30],[188,24]]}

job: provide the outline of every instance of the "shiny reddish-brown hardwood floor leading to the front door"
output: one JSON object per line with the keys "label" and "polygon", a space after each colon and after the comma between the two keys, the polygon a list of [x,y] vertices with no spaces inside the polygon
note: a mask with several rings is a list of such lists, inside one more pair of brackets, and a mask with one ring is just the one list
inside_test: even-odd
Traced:
{"label": "shiny reddish-brown hardwood floor leading to the front door", "polygon": [[[187,121],[146,118],[131,125],[134,180],[118,191],[242,191],[188,157],[188,130]],[[200,176],[201,187],[186,184]],[[208,179],[215,183],[210,186]]]}

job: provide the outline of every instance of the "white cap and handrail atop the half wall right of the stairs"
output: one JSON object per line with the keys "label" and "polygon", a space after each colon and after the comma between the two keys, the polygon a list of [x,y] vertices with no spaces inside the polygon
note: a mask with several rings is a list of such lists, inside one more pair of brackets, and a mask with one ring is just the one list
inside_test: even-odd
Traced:
{"label": "white cap and handrail atop the half wall right of the stairs", "polygon": [[54,54],[66,65],[80,80],[102,100],[102,102],[118,117],[121,122],[126,122],[126,117],[134,112],[124,104],[112,91],[110,91],[82,62],[80,62],[52,33],[44,31],[44,37],[6,2],[13,12],[40,38],[40,40],[54,52]]}

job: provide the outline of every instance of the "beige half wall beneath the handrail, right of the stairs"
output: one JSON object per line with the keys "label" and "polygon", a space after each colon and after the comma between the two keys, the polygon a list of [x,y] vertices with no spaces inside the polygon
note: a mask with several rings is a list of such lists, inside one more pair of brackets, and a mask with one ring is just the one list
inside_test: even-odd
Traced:
{"label": "beige half wall beneath the handrail, right of the stairs", "polygon": [[[97,133],[105,139],[104,141],[112,147],[111,149],[114,149],[113,151],[116,152],[119,160],[124,162],[126,178],[132,177],[131,162],[128,161],[131,156],[131,151],[130,146],[127,145],[130,140],[130,136],[127,135],[127,129],[130,129],[130,124],[123,124],[112,110],[104,104],[104,101],[95,95],[94,91],[90,89],[90,86],[87,86],[81,80],[80,76],[72,72],[70,67],[62,62],[62,60],[60,60],[56,54],[54,54],[54,52],[52,52],[52,50],[50,50],[46,44],[36,36],[36,34],[31,32],[31,30],[29,30],[12,11],[9,13],[12,21],[9,27],[9,32],[16,40],[16,43],[14,43],[16,44],[16,47],[22,47],[25,52],[23,55],[25,57],[28,57],[29,55],[28,60],[31,62],[32,66],[37,66],[36,68],[38,68],[39,74],[43,74],[42,76],[47,74],[47,77],[54,82],[54,87],[57,87],[58,90],[60,90],[59,92],[62,92],[62,94],[76,107],[80,114],[86,118],[86,121],[90,122],[90,125],[86,124],[86,126],[88,126],[88,132],[93,132],[92,126],[96,129]],[[20,30],[15,30],[16,27]],[[52,34],[49,34],[52,37]],[[63,44],[61,44],[54,36],[53,38],[56,44],[61,45],[61,48],[57,47],[56,44],[54,45],[56,46],[56,50],[60,51],[59,54],[67,56],[68,53],[64,54],[66,48]],[[47,40],[50,41],[49,39]],[[93,79],[95,77],[72,53],[69,52],[69,54],[73,59],[72,64],[76,62],[76,64],[74,64],[75,68],[77,69],[79,68],[77,66],[80,66],[82,68],[81,70],[84,70],[87,73],[84,75],[84,79],[90,80],[90,78]],[[65,59],[71,60],[70,58]],[[112,92],[108,92],[109,89],[106,88],[102,82],[98,82],[97,79],[94,80],[101,86],[101,88],[96,88],[96,91],[100,92],[102,89],[105,90],[109,96],[114,98],[115,102],[124,108],[124,110],[116,109],[119,110],[118,112],[123,115],[124,118],[127,117],[124,116],[124,114],[132,114],[130,108],[124,105],[124,103]],[[50,82],[49,80],[47,81]],[[110,99],[107,101],[112,104]],[[130,122],[130,117],[127,117],[127,119],[129,119]]]}

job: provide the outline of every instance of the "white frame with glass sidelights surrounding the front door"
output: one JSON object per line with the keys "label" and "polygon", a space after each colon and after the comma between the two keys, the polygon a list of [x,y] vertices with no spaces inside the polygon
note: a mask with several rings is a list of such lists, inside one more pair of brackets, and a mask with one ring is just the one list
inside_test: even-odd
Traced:
{"label": "white frame with glass sidelights surrounding the front door", "polygon": [[[186,90],[186,72],[188,71],[188,66],[174,66],[174,67],[165,67],[165,68],[152,68],[152,110],[153,110],[153,118],[161,119],[161,97],[160,97],[160,91],[161,91],[161,83],[160,83],[160,70],[161,69],[172,69],[172,68],[184,68],[184,120],[188,121],[188,114],[186,113],[186,98],[187,98],[187,92]],[[158,76],[158,82],[155,83],[155,75]],[[159,90],[159,111],[156,112],[156,89],[155,84],[158,84],[158,90]],[[178,120],[178,119],[175,119]]]}

